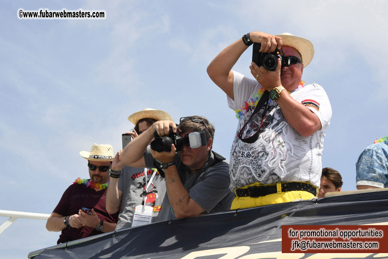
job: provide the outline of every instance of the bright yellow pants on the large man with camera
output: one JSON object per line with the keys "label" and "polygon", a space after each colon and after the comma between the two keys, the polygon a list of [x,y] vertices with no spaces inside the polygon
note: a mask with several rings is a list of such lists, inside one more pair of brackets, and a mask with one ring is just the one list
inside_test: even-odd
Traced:
{"label": "bright yellow pants on the large man with camera", "polygon": [[[284,183],[282,183],[284,184]],[[248,186],[244,186],[239,189],[246,189],[251,186],[272,186],[277,184],[266,184],[261,185],[259,183],[250,184]],[[263,205],[270,205],[275,203],[283,203],[283,202],[289,202],[294,200],[310,200],[316,196],[314,194],[309,193],[307,191],[287,191],[287,192],[279,192],[281,191],[280,184],[278,184],[278,193],[268,194],[265,196],[259,196],[259,197],[235,197],[232,206],[230,207],[231,210],[236,210],[238,208],[252,208],[252,207],[258,207]],[[317,190],[318,193],[318,190]],[[236,194],[236,191],[235,191]]]}

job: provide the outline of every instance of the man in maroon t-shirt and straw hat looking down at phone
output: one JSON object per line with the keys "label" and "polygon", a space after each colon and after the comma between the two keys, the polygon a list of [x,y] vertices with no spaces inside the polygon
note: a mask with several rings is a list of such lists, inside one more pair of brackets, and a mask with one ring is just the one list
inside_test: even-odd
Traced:
{"label": "man in maroon t-shirt and straw hat looking down at phone", "polygon": [[112,146],[93,144],[80,155],[88,160],[90,179],[76,179],[47,219],[47,230],[62,231],[58,244],[114,231],[118,221],[118,213],[110,215],[105,207]]}

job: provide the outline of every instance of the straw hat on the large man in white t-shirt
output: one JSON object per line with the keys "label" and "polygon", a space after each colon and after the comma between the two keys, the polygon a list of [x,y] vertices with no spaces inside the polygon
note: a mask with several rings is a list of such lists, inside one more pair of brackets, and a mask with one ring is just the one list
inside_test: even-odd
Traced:
{"label": "straw hat on the large man in white t-shirt", "polygon": [[290,46],[299,51],[302,56],[303,67],[306,67],[308,64],[310,64],[314,56],[314,46],[310,40],[294,36],[288,32],[275,36],[282,38],[283,46]]}

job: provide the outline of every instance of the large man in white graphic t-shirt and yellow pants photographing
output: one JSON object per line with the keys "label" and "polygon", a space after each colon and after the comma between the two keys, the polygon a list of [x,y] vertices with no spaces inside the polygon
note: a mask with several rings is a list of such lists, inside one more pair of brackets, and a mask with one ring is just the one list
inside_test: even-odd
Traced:
{"label": "large man in white graphic t-shirt and yellow pants photographing", "polygon": [[[253,75],[249,78],[232,67],[253,43],[261,44],[258,53],[279,49],[275,57],[280,54],[282,61],[278,58],[272,71],[249,61]],[[227,94],[239,120],[230,151],[230,181],[236,195],[232,209],[317,196],[331,106],[321,86],[304,86],[301,80],[313,56],[310,40],[290,33],[251,32],[208,66],[210,78]]]}

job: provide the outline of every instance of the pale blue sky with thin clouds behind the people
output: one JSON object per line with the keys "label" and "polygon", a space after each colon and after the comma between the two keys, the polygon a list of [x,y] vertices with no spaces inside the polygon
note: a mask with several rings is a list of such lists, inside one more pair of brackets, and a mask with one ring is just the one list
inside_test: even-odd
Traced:
{"label": "pale blue sky with thin clouds behind the people", "polygon": [[[326,90],[333,116],[322,165],[355,189],[355,162],[387,133],[387,3],[317,1],[12,1],[0,34],[0,209],[50,214],[93,143],[121,148],[127,117],[162,109],[175,121],[204,115],[213,149],[229,159],[237,126],[206,67],[244,33],[289,32],[315,55],[302,79]],[[18,19],[17,11],[105,10],[106,19]],[[250,75],[251,49],[234,70]],[[7,220],[1,217],[2,224]],[[18,219],[0,235],[7,258],[54,245],[45,222]],[[15,242],[17,240],[17,242]]]}

